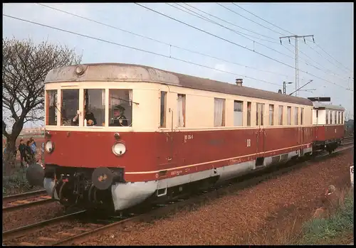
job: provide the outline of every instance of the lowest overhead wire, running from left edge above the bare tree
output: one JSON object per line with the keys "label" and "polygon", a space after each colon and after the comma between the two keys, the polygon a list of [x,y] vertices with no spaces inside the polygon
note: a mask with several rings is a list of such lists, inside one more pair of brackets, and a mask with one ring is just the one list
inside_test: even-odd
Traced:
{"label": "lowest overhead wire, running from left edge above the bare tree", "polygon": [[248,77],[248,76],[245,76],[245,75],[240,75],[240,74],[236,74],[234,72],[228,72],[226,70],[219,70],[219,69],[216,69],[216,68],[211,68],[209,66],[206,66],[206,65],[201,65],[201,64],[198,64],[198,63],[194,63],[194,62],[190,62],[188,60],[182,60],[180,58],[174,58],[172,56],[167,56],[167,55],[164,55],[164,54],[161,54],[161,53],[155,53],[155,52],[151,52],[151,51],[148,51],[148,50],[144,50],[144,49],[141,49],[141,48],[135,48],[135,47],[132,47],[130,45],[123,45],[123,44],[120,44],[120,43],[115,43],[115,42],[112,42],[112,41],[107,41],[107,40],[104,40],[102,38],[96,38],[96,37],[93,37],[93,36],[87,36],[85,34],[82,34],[82,33],[76,33],[76,32],[73,32],[73,31],[68,31],[66,29],[62,29],[62,28],[56,28],[56,27],[53,27],[53,26],[48,26],[46,24],[43,24],[43,23],[36,23],[34,21],[28,21],[26,19],[23,19],[23,18],[19,18],[19,17],[15,17],[15,16],[9,16],[9,15],[6,15],[6,14],[3,14],[3,16],[6,16],[6,17],[9,17],[9,18],[14,18],[14,19],[17,19],[19,21],[24,21],[24,22],[27,22],[27,23],[32,23],[32,24],[35,24],[35,25],[38,25],[38,26],[43,26],[43,27],[46,27],[46,28],[52,28],[52,29],[55,29],[55,30],[58,30],[58,31],[62,31],[62,32],[66,32],[66,33],[71,33],[71,34],[74,34],[76,36],[82,36],[82,37],[85,37],[85,38],[90,38],[90,39],[93,39],[95,41],[102,41],[102,42],[105,42],[105,43],[110,43],[112,45],[119,45],[119,46],[122,46],[124,48],[130,48],[132,50],[138,50],[140,52],[143,52],[143,53],[150,53],[150,54],[153,54],[153,55],[157,55],[157,56],[161,56],[161,57],[164,57],[164,58],[171,58],[173,60],[178,60],[178,61],[181,61],[181,62],[184,62],[184,63],[189,63],[191,65],[198,65],[198,66],[201,66],[203,68],[208,68],[208,69],[211,69],[211,70],[216,70],[216,71],[219,71],[219,72],[225,72],[225,73],[229,73],[231,75],[236,75],[236,76],[241,76],[241,77],[246,77],[246,78],[249,78],[251,80],[256,80],[256,81],[260,81],[260,82],[266,82],[268,84],[271,84],[271,85],[278,85],[280,86],[279,84],[276,84],[276,83],[273,83],[273,82],[268,82],[266,80],[259,80],[255,77]]}

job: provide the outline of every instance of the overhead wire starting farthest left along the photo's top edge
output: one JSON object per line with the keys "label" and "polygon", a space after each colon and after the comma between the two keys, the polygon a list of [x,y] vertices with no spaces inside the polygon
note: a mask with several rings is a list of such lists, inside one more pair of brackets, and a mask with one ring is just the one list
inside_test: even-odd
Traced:
{"label": "overhead wire starting farthest left along the photo's top edge", "polygon": [[283,77],[288,77],[288,75],[281,74],[281,73],[278,73],[278,72],[272,72],[272,71],[269,71],[269,70],[262,70],[262,69],[259,69],[259,68],[253,68],[253,67],[248,66],[248,65],[242,65],[242,64],[239,64],[239,63],[230,61],[230,60],[225,60],[225,59],[223,59],[223,58],[218,58],[218,57],[215,57],[215,56],[212,56],[212,55],[207,55],[207,54],[200,53],[200,52],[197,52],[197,51],[194,51],[194,50],[190,50],[190,49],[187,49],[187,48],[182,48],[182,47],[180,47],[180,46],[178,46],[178,45],[172,45],[172,44],[170,44],[170,43],[165,43],[165,42],[163,42],[163,41],[158,41],[158,40],[156,40],[156,39],[154,39],[154,38],[150,38],[150,37],[147,37],[147,36],[142,36],[142,35],[140,35],[140,34],[138,34],[138,33],[133,33],[133,32],[131,32],[131,31],[127,31],[127,30],[122,29],[122,28],[117,28],[117,27],[115,27],[115,26],[111,26],[111,25],[108,25],[108,24],[106,24],[106,23],[101,23],[101,22],[99,22],[99,21],[95,21],[95,20],[90,19],[90,18],[86,18],[86,17],[83,17],[83,16],[78,16],[77,14],[73,14],[73,13],[70,13],[70,12],[67,12],[67,11],[63,11],[63,10],[61,10],[61,9],[56,9],[56,8],[54,8],[54,7],[47,6],[47,5],[45,5],[45,4],[39,4],[39,5],[41,5],[41,6],[43,6],[43,7],[46,7],[46,8],[49,8],[49,9],[53,9],[53,10],[55,10],[55,11],[60,11],[60,12],[65,13],[65,14],[69,14],[69,15],[72,15],[72,16],[76,16],[76,17],[78,17],[78,18],[82,18],[82,19],[84,19],[84,20],[86,20],[86,21],[92,21],[92,22],[94,22],[94,23],[98,23],[98,24],[100,24],[100,25],[107,26],[107,27],[109,27],[109,28],[114,28],[114,29],[117,29],[118,31],[122,31],[122,32],[125,32],[125,33],[130,33],[130,34],[132,34],[132,35],[134,35],[134,36],[139,36],[139,37],[141,37],[141,38],[146,38],[146,39],[148,39],[148,40],[150,40],[150,41],[155,41],[155,42],[161,43],[161,44],[163,44],[163,45],[168,45],[169,47],[177,48],[177,49],[180,49],[180,50],[185,50],[185,51],[187,51],[187,52],[189,52],[189,53],[195,53],[195,54],[198,54],[198,55],[205,56],[205,57],[207,57],[207,58],[213,58],[213,59],[215,59],[215,60],[219,60],[219,61],[222,61],[222,62],[234,64],[234,65],[239,65],[239,66],[242,66],[242,67],[244,67],[244,68],[250,68],[250,69],[252,69],[252,70],[259,70],[259,71],[261,71],[261,72],[268,72],[268,73],[272,73],[272,74],[276,74],[276,75],[281,75],[281,76],[283,76]]}

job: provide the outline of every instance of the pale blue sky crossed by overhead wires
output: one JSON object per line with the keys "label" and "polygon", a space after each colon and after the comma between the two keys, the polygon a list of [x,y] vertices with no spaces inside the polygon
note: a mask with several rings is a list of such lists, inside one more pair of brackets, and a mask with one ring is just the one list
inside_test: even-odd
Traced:
{"label": "pale blue sky crossed by overhead wires", "polygon": [[[303,38],[301,38],[299,40],[299,69],[308,72],[309,74],[299,72],[299,85],[304,85],[309,80],[313,80],[313,82],[307,85],[305,89],[316,90],[313,93],[300,92],[299,96],[331,97],[333,104],[342,104],[350,114],[353,114],[353,92],[345,90],[345,88],[350,87],[353,90],[354,82],[353,3],[238,4],[244,9],[251,11],[251,13],[256,16],[264,18],[266,21],[269,21],[290,33],[262,21],[256,16],[249,14],[231,3],[223,3],[222,5],[265,27],[253,23],[238,14],[234,14],[216,3],[192,3],[189,5],[217,16],[224,21],[234,23],[236,26],[245,28],[245,30],[214,17],[206,16],[206,14],[197,11],[197,9],[192,9],[187,5],[180,4],[181,6],[178,6],[172,4],[180,9],[183,9],[182,6],[188,9],[190,8],[192,11],[206,16],[206,18],[211,18],[211,20],[221,23],[221,25],[248,34],[249,36],[246,37],[249,39],[214,23],[209,23],[201,18],[187,14],[184,11],[179,11],[179,9],[175,9],[167,4],[142,4],[150,9],[155,9],[163,14],[201,28],[204,31],[214,33],[216,36],[238,43],[243,47],[252,50],[254,49],[258,53],[279,60],[281,63],[277,63],[276,61],[265,58],[237,45],[221,41],[219,38],[209,36],[206,33],[197,31],[194,28],[185,26],[182,23],[178,23],[167,17],[160,16],[159,14],[133,3],[46,5],[106,23],[117,28],[122,28],[126,31],[140,34],[141,36],[154,38],[163,43],[187,48],[233,63],[215,60],[202,55],[197,55],[196,53],[189,53],[178,48],[170,48],[169,45],[150,41],[146,38],[118,31],[114,28],[109,28],[108,26],[86,21],[82,18],[48,9],[38,4],[3,4],[3,14],[43,23],[48,26],[63,28],[68,31],[82,33],[87,36],[93,36],[95,38],[123,45],[130,45],[154,53],[160,53],[167,56],[171,55],[172,57],[188,60],[192,63],[199,63],[209,68],[233,72],[245,76],[244,85],[262,90],[271,90],[273,92],[277,92],[278,89],[282,88],[283,81],[295,82],[295,70],[281,64],[285,63],[293,67],[295,66],[295,47],[288,43],[288,39],[284,39],[283,45],[281,45],[279,43],[279,37],[282,36],[282,34],[286,36],[290,35],[290,33],[295,33],[300,36],[313,34],[315,43],[323,48],[328,54],[333,56],[338,62],[342,63],[342,65],[335,62],[335,60],[330,58],[319,46],[315,45],[313,41],[311,41],[311,38],[306,38],[306,44],[304,43]],[[184,10],[187,11],[187,9]],[[4,37],[14,36],[19,39],[31,38],[35,42],[41,42],[48,39],[48,41],[51,41],[52,43],[67,45],[70,48],[75,48],[77,53],[83,53],[83,63],[111,62],[150,65],[163,70],[171,70],[174,72],[231,83],[234,83],[236,77],[239,77],[231,73],[202,68],[197,65],[183,63],[171,58],[162,58],[149,53],[142,53],[141,51],[75,36],[70,33],[63,33],[61,31],[45,28],[43,26],[36,26],[31,23],[24,23],[8,17],[3,17],[3,20]],[[272,31],[268,28],[271,28]],[[248,31],[246,31],[246,29]],[[253,43],[253,41],[255,41],[255,43]],[[293,39],[291,39],[291,43],[294,44]],[[266,46],[268,48],[266,48]],[[344,66],[348,68],[348,70]],[[316,77],[310,74],[313,74]],[[280,86],[252,80],[248,77],[272,82],[273,84],[278,84]],[[322,79],[318,77],[321,77]],[[349,79],[349,77],[351,79]],[[325,80],[330,82],[326,82]],[[337,87],[331,82],[341,85],[344,88]],[[295,85],[288,85],[287,92],[292,92],[294,90]]]}

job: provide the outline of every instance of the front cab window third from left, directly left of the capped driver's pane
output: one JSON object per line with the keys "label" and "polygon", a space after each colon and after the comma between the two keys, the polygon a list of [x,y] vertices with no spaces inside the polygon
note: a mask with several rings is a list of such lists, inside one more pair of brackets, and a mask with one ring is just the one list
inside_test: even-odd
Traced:
{"label": "front cab window third from left, directly left of the capped driver's pane", "polygon": [[83,126],[105,126],[105,90],[84,90]]}

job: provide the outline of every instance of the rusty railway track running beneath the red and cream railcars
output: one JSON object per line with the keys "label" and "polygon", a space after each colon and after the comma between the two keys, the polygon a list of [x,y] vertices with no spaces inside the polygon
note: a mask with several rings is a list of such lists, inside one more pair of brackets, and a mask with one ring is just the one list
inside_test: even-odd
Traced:
{"label": "rusty railway track running beneath the red and cream railcars", "polygon": [[[353,143],[353,142],[352,142]],[[338,156],[342,151],[353,148],[353,145],[343,145],[334,153],[321,153],[318,156],[312,157],[306,161],[297,163],[290,163],[286,166],[266,169],[263,173],[256,172],[245,178],[235,178],[220,185],[216,188],[209,188],[209,190],[201,191],[199,194],[190,195],[189,198],[179,197],[176,200],[170,200],[162,205],[137,207],[141,211],[125,212],[120,216],[93,216],[88,211],[75,212],[71,215],[57,217],[51,220],[38,222],[26,227],[20,227],[16,230],[9,230],[3,232],[3,244],[6,245],[73,245],[75,242],[83,241],[92,234],[99,234],[100,232],[108,231],[113,228],[125,228],[126,225],[132,225],[135,222],[152,222],[157,217],[163,217],[177,209],[187,207],[189,205],[196,205],[197,203],[204,203],[205,200],[224,195],[229,190],[241,190],[243,188],[251,187],[264,180],[281,176],[303,166],[308,166],[310,163],[322,161],[325,158]],[[75,218],[74,222],[66,221],[70,218]],[[62,224],[61,224],[62,223]],[[36,235],[35,233],[39,233]],[[31,234],[31,235],[30,235]],[[22,240],[21,240],[22,239]],[[24,239],[24,240],[23,240]]]}

